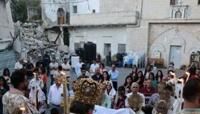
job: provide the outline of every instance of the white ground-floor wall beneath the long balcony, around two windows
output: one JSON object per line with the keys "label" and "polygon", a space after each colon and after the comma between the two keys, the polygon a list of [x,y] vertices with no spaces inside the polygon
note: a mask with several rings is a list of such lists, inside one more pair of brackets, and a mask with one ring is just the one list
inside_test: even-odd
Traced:
{"label": "white ground-floor wall beneath the long balcony, around two windows", "polygon": [[97,45],[97,53],[104,57],[104,44],[111,44],[111,54],[118,52],[118,44],[127,44],[126,27],[94,27],[76,28],[70,31],[70,50],[74,50],[74,43],[93,42]]}

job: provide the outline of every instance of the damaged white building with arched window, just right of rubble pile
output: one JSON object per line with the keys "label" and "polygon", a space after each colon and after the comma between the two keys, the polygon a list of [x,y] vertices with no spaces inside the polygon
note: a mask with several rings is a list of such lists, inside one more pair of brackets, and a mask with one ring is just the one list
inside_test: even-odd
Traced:
{"label": "damaged white building with arched window, just right of rubble pile", "polygon": [[59,45],[69,45],[69,0],[41,0],[43,27],[48,39]]}

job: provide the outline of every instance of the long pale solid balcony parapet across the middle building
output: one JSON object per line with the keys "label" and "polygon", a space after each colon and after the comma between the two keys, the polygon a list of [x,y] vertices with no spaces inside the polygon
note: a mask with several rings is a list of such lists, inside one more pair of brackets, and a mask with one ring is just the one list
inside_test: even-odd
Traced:
{"label": "long pale solid balcony parapet across the middle building", "polygon": [[127,25],[137,24],[138,13],[113,12],[71,15],[70,26],[100,26],[100,25]]}

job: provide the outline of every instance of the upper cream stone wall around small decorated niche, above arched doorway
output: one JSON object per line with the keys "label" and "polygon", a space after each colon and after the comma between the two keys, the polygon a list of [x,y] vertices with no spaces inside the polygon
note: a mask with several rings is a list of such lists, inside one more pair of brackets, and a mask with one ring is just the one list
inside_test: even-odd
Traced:
{"label": "upper cream stone wall around small decorated niche, above arched doorway", "polygon": [[[179,8],[187,6],[185,15],[187,19],[200,19],[200,5],[198,0],[179,0]],[[170,5],[170,0],[143,0],[143,19],[171,19],[172,9],[177,6]]]}

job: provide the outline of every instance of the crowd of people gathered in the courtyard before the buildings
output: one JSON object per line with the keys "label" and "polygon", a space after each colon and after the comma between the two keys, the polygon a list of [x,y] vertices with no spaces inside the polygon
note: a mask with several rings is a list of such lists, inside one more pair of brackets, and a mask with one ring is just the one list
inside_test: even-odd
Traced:
{"label": "crowd of people gathered in the courtyard before the buildings", "polygon": [[[200,73],[195,66],[190,66],[183,76],[176,76],[173,64],[167,74],[152,65],[144,71],[134,65],[125,80],[119,80],[123,78],[119,78],[115,64],[109,69],[101,61],[93,60],[87,66],[79,61],[72,68],[67,58],[62,63],[46,59],[35,65],[30,60],[19,60],[12,74],[5,68],[0,77],[0,114],[62,114],[61,75],[70,81],[67,96],[76,95],[77,80],[91,79],[100,84],[101,97],[95,105],[107,109],[131,108],[136,114],[184,114],[200,108]],[[71,72],[76,80],[69,79]]]}

